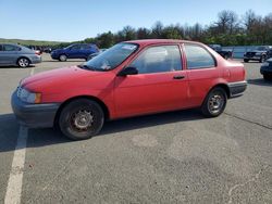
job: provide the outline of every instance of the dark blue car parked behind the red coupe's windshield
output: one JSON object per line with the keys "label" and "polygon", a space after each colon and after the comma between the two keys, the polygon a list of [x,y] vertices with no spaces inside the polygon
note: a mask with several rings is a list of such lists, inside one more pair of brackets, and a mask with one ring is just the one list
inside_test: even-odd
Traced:
{"label": "dark blue car parked behind the red coupe's windshield", "polygon": [[66,61],[67,59],[85,59],[88,60],[90,54],[99,52],[99,49],[94,43],[75,43],[64,49],[57,49],[51,52],[53,60]]}

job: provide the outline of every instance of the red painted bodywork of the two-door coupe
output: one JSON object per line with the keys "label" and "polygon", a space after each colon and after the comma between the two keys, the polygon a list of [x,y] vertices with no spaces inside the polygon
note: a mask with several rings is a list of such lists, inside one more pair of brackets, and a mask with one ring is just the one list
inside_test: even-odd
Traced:
{"label": "red painted bodywork of the two-door coupe", "polygon": [[[136,53],[113,71],[94,72],[76,66],[58,68],[30,76],[22,81],[26,89],[40,92],[42,103],[65,102],[81,95],[95,97],[110,112],[110,118],[120,118],[149,113],[200,106],[212,87],[245,80],[244,65],[225,61],[209,47],[205,47],[215,59],[217,67],[187,69],[182,40],[135,40],[139,44]],[[183,71],[138,74],[119,77],[116,74],[132,62],[143,49],[154,44],[178,44],[183,55]],[[173,76],[185,78],[174,80]]]}

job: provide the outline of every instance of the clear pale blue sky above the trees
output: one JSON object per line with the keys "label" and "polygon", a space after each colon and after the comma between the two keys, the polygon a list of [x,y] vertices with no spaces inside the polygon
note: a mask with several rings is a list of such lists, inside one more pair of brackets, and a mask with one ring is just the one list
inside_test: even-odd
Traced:
{"label": "clear pale blue sky above the trees", "polygon": [[75,41],[124,26],[209,25],[222,10],[272,12],[272,0],[0,0],[0,38]]}

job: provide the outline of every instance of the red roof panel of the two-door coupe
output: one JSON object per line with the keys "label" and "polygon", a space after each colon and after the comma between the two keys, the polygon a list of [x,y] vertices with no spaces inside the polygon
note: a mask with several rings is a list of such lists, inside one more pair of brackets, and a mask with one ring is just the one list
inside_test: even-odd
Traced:
{"label": "red roof panel of the two-door coupe", "polygon": [[125,41],[128,43],[137,43],[139,46],[149,46],[149,44],[156,44],[156,43],[198,43],[202,44],[200,42],[196,41],[189,41],[189,40],[177,40],[177,39],[143,39],[143,40],[129,40]]}

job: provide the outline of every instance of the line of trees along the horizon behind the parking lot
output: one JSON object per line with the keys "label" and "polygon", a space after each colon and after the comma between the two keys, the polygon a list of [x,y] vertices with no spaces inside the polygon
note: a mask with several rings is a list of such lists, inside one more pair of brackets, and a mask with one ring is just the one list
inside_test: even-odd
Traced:
{"label": "line of trees along the horizon behind the parking lot", "polygon": [[[122,30],[99,34],[77,42],[96,43],[99,48],[109,48],[118,42],[134,39],[184,39],[207,44],[257,46],[272,44],[272,13],[261,16],[252,10],[238,16],[234,11],[221,11],[215,22],[210,25],[166,25],[156,22],[151,28],[125,26]],[[61,43],[59,47],[64,47]]]}

